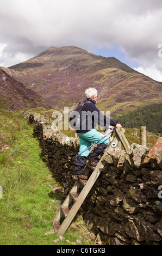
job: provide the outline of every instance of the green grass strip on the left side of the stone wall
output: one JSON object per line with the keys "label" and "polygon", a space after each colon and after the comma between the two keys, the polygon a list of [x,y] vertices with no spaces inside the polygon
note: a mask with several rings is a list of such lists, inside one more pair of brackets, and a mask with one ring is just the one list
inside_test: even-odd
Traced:
{"label": "green grass strip on the left side of the stone wall", "polygon": [[53,230],[52,220],[60,207],[54,202],[64,200],[52,192],[60,184],[42,161],[39,141],[27,120],[18,112],[0,111],[0,118],[0,137],[8,145],[0,151],[0,245],[72,245],[77,239],[91,245],[79,228],[68,229],[59,243],[53,242],[57,235],[45,235]]}

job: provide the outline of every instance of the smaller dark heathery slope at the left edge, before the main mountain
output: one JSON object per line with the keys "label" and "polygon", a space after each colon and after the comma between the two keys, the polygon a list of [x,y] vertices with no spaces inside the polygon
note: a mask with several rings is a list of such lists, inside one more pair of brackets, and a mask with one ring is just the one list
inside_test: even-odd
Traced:
{"label": "smaller dark heathery slope at the left edge, before the main mountain", "polygon": [[35,107],[49,108],[41,96],[0,68],[0,108],[11,111]]}

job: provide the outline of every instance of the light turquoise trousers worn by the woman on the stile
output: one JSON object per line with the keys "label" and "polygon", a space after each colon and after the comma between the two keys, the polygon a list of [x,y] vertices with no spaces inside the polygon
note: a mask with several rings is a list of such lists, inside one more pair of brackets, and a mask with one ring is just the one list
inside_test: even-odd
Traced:
{"label": "light turquoise trousers worn by the woman on the stile", "polygon": [[[95,142],[99,141],[99,139],[104,137],[102,133],[98,132],[95,129],[92,129],[89,132],[85,132],[85,133],[78,132],[77,135],[80,139],[79,153],[84,151],[86,148],[89,148],[91,144],[94,144]],[[105,137],[96,144],[99,144],[99,143],[104,143],[106,145],[109,145],[110,141],[107,137]],[[90,153],[90,150],[91,148],[87,149],[86,151],[84,151],[82,154],[79,154],[79,155],[87,157]]]}

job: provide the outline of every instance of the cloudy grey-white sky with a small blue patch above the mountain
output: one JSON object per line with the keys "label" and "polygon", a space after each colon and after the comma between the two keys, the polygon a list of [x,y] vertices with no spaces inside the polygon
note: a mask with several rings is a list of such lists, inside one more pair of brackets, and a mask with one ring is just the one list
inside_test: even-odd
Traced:
{"label": "cloudy grey-white sky with a small blue patch above the mountain", "polygon": [[0,0],[0,66],[73,45],[162,81],[161,0]]}

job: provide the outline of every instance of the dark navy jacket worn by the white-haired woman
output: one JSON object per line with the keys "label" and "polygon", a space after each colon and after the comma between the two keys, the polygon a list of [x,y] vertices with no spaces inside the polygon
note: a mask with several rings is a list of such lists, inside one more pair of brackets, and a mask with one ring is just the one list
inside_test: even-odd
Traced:
{"label": "dark navy jacket worn by the white-haired woman", "polygon": [[82,109],[82,124],[80,125],[80,130],[77,130],[78,133],[84,133],[90,131],[91,129],[95,129],[96,125],[105,127],[105,129],[108,129],[109,125],[117,125],[115,121],[111,120],[99,111],[99,109],[96,107],[96,101],[92,99],[87,100],[91,101],[91,103],[86,103]]}

